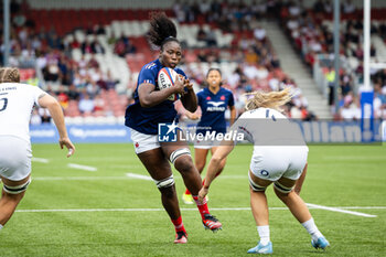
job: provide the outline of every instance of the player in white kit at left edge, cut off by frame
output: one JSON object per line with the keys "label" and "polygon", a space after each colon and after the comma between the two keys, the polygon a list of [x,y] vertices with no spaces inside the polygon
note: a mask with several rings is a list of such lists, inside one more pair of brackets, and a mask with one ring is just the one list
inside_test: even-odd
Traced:
{"label": "player in white kit at left edge, cut off by frame", "polygon": [[60,135],[60,147],[75,152],[57,100],[36,86],[20,83],[18,68],[0,68],[0,231],[12,216],[31,183],[29,124],[33,106],[47,108]]}

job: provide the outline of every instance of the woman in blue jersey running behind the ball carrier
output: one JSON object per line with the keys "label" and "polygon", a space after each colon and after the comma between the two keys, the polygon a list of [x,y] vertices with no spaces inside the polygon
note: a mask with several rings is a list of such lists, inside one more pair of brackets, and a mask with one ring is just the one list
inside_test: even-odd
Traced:
{"label": "woman in blue jersey running behind the ball carrier", "polygon": [[[226,120],[225,111],[229,107],[230,125],[236,118],[236,108],[233,93],[222,87],[222,73],[219,68],[210,68],[206,74],[207,87],[197,93],[199,106],[201,108],[201,119],[197,124],[196,135],[202,133],[204,137],[207,133],[225,133]],[[189,114],[191,119],[197,119],[196,114]],[[212,137],[212,136],[211,136]],[[215,140],[196,141],[194,144],[194,161],[200,174],[204,170],[207,152],[211,149],[212,154],[216,151]],[[221,163],[217,175],[223,171],[226,159]],[[189,189],[182,195],[185,204],[193,204],[193,197]]]}

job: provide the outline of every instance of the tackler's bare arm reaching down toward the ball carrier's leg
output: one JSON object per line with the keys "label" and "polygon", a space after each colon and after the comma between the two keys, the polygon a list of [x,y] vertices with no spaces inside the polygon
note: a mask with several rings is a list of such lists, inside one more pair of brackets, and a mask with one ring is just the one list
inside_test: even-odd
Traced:
{"label": "tackler's bare arm reaching down toward the ball carrier's leg", "polygon": [[210,165],[207,167],[207,172],[205,176],[205,183],[199,192],[199,201],[202,202],[205,195],[208,193],[212,181],[216,178],[216,174],[221,168],[221,162],[226,158],[234,149],[234,141],[224,141],[214,152]]}

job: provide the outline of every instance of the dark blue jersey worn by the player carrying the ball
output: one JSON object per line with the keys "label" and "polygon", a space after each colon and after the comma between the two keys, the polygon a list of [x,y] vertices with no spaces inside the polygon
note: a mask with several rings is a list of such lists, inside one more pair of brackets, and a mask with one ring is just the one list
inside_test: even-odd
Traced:
{"label": "dark blue jersey worn by the player carrying the ball", "polygon": [[[150,108],[141,107],[139,103],[138,87],[141,86],[141,84],[153,84],[156,85],[156,90],[159,90],[158,73],[162,67],[163,66],[159,60],[143,65],[138,76],[137,88],[135,92],[135,103],[129,105],[126,109],[125,125],[141,133],[158,135],[158,124],[173,122],[173,120],[176,118],[174,103],[171,100],[165,99],[159,105]],[[181,68],[174,68],[174,71],[178,74],[186,77],[185,73]]]}

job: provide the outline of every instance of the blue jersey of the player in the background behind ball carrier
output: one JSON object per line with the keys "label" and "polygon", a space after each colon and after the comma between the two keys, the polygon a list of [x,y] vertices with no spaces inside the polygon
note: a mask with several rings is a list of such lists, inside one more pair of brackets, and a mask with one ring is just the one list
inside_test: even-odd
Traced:
{"label": "blue jersey of the player in the background behind ball carrier", "polygon": [[196,133],[205,133],[206,131],[225,133],[225,110],[227,106],[235,105],[233,93],[221,87],[217,94],[213,94],[208,88],[204,88],[197,93],[197,100],[202,116],[197,124]]}

